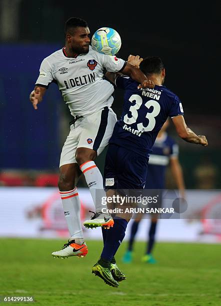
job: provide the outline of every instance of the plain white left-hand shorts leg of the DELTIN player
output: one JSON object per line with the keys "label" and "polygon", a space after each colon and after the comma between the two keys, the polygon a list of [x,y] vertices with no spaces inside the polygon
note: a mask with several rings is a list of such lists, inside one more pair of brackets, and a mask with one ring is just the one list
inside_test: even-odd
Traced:
{"label": "plain white left-hand shorts leg of the DELTIN player", "polygon": [[75,152],[81,129],[81,122],[78,121],[75,122],[75,127],[73,124],[70,126],[70,132],[61,150],[59,167],[64,164],[76,163]]}

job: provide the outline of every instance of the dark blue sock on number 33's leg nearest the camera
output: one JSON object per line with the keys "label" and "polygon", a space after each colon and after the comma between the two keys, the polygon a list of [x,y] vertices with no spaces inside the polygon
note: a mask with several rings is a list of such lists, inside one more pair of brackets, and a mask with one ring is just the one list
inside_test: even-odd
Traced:
{"label": "dark blue sock on number 33's leg nearest the camera", "polygon": [[113,227],[106,231],[106,239],[100,256],[102,259],[111,261],[125,236],[126,226],[127,221],[125,219],[114,219]]}

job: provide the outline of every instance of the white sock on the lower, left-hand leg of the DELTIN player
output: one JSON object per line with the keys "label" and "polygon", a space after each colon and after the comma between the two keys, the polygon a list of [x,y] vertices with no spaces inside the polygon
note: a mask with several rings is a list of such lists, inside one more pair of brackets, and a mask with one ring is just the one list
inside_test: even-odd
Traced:
{"label": "white sock on the lower, left-hand leg of the DELTIN player", "polygon": [[[70,233],[70,238],[71,239],[83,238],[83,232],[80,221],[80,199],[78,196],[77,189],[74,188],[69,191],[60,191],[60,197],[63,205],[64,215],[67,222],[67,227]],[[77,243],[77,244],[82,244],[82,243]]]}

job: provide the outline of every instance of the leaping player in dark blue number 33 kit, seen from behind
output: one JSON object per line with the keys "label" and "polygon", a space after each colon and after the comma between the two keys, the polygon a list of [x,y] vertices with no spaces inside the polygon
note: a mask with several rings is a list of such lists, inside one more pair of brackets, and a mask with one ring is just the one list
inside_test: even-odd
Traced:
{"label": "leaping player in dark blue number 33 kit, seen from behind", "polygon": [[[105,160],[107,197],[114,195],[116,189],[144,188],[149,153],[168,116],[172,118],[176,132],[182,139],[207,145],[205,136],[196,135],[186,126],[178,96],[162,85],[165,69],[161,59],[156,56],[146,57],[140,69],[155,83],[154,88],[142,89],[127,76],[106,73],[110,81],[124,89],[122,115],[114,126]],[[121,278],[117,267],[111,264],[115,264],[114,255],[124,238],[131,215],[119,211],[114,216],[114,226],[108,230],[102,229],[103,249],[99,260],[92,267],[92,273],[113,287],[118,287],[118,281],[125,279],[125,275]]]}

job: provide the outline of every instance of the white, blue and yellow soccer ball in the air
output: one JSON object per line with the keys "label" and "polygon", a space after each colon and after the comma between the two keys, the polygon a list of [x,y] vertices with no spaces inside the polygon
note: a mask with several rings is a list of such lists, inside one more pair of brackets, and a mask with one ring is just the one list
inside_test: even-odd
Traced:
{"label": "white, blue and yellow soccer ball in the air", "polygon": [[121,47],[120,35],[111,27],[101,27],[93,34],[91,47],[99,53],[115,55]]}

